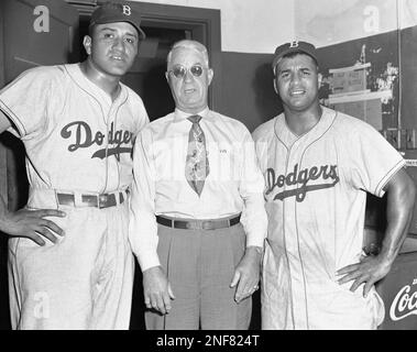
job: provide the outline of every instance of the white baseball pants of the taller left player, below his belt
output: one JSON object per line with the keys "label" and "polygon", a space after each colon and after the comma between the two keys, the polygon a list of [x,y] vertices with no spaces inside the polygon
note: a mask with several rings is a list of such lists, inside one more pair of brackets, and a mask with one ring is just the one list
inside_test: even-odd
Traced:
{"label": "white baseball pants of the taller left player, below his belt", "polygon": [[65,231],[57,243],[9,242],[12,328],[129,329],[134,262],[128,201],[99,209],[57,206],[54,199],[51,191],[32,191],[30,202],[66,212],[50,218]]}

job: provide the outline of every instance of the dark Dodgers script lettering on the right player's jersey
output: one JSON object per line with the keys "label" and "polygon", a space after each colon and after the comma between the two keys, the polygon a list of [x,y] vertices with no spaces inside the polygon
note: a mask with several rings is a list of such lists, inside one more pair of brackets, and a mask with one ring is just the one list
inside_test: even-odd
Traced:
{"label": "dark Dodgers script lettering on the right player's jersey", "polygon": [[[330,179],[331,183],[316,184],[307,186],[309,180],[316,180],[321,178],[322,180]],[[275,195],[274,200],[284,200],[285,198],[295,196],[298,202],[306,198],[308,191],[331,188],[339,183],[339,175],[337,172],[337,165],[323,165],[323,166],[312,166],[311,168],[304,168],[298,170],[298,164],[294,166],[294,170],[288,175],[275,176],[275,170],[268,168],[266,170],[266,183],[267,190],[265,195],[271,194],[276,187],[282,188],[284,186],[298,186],[290,190],[284,190]]]}

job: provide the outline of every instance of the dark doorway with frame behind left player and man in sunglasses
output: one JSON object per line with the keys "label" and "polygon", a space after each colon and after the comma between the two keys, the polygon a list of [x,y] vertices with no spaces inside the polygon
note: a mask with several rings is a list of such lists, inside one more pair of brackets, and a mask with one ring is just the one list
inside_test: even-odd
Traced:
{"label": "dark doorway with frame behind left player and man in sunglasses", "polygon": [[[79,1],[67,1],[79,11],[80,61],[86,58],[83,37],[88,33],[91,13],[96,1],[80,4]],[[98,1],[101,4],[103,1]],[[141,28],[146,38],[141,42],[139,54],[122,81],[132,88],[143,100],[150,120],[153,121],[174,111],[175,103],[165,79],[166,57],[172,45],[179,40],[196,40],[205,44],[209,52],[210,66],[220,74],[220,10],[161,6],[145,2],[130,2],[142,16]],[[220,82],[220,80],[219,80]],[[212,82],[209,88],[209,107],[219,103],[221,86]],[[144,330],[144,298],[142,272],[135,261],[131,330]]]}

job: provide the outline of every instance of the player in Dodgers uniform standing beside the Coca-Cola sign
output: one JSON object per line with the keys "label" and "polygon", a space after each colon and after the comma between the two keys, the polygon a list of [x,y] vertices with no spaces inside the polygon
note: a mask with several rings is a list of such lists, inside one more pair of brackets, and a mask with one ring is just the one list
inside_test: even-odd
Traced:
{"label": "player in Dodgers uniform standing beside the Coca-Cola sign", "polygon": [[[377,131],[319,105],[317,65],[309,43],[276,48],[284,112],[253,133],[268,213],[262,328],[375,329],[384,308],[374,283],[407,233],[415,187]],[[387,229],[375,256],[362,255],[365,191],[387,193]]]}

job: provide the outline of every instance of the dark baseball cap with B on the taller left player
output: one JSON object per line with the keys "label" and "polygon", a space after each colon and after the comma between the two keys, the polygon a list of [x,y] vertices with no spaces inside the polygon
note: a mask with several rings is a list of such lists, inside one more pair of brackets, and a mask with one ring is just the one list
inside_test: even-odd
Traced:
{"label": "dark baseball cap with B on the taller left player", "polygon": [[129,22],[138,30],[138,34],[142,40],[146,36],[140,26],[140,13],[134,11],[132,7],[125,2],[103,3],[92,12],[89,26],[113,22]]}

